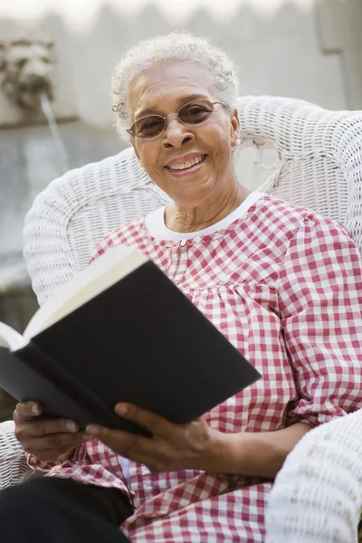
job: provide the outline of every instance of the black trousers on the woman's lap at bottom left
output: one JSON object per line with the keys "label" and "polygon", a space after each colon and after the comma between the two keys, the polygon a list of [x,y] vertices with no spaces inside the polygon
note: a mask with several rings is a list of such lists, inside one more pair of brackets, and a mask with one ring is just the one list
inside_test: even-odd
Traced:
{"label": "black trousers on the woman's lap at bottom left", "polygon": [[2,543],[129,543],[119,525],[133,510],[117,489],[32,477],[0,491]]}

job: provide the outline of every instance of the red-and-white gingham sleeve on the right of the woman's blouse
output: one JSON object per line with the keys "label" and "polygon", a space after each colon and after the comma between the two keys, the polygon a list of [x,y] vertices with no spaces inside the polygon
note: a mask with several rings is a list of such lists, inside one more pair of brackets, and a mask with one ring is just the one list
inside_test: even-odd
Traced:
{"label": "red-and-white gingham sleeve on the right of the woman's blouse", "polygon": [[294,233],[277,283],[298,398],[289,422],[312,426],[362,406],[362,275],[342,226],[311,215]]}

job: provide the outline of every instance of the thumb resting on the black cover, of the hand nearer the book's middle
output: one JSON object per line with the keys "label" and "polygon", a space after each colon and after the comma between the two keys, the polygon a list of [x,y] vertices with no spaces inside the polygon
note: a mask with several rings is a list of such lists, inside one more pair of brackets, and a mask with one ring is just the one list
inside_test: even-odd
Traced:
{"label": "thumb resting on the black cover, of the hand nearer the book's middle", "polygon": [[176,429],[176,424],[170,423],[159,414],[151,413],[147,409],[142,409],[142,407],[138,407],[137,405],[117,404],[115,412],[129,421],[143,426],[150,433],[165,439],[169,439]]}

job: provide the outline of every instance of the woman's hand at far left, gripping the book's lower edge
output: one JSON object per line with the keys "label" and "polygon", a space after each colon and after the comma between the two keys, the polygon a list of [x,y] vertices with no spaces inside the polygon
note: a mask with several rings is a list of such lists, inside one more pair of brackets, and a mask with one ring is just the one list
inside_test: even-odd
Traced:
{"label": "woman's hand at far left, gripping the book's lower edge", "polygon": [[92,439],[73,421],[42,416],[42,406],[35,402],[17,404],[13,418],[16,439],[40,462],[65,462],[76,447]]}

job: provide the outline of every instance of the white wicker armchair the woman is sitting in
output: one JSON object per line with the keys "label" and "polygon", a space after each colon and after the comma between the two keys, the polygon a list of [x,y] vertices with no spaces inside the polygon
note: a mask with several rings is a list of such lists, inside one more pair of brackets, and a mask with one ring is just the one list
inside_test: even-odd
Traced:
{"label": "white wicker armchair the woman is sitting in", "polygon": [[[344,224],[362,250],[362,114],[302,100],[245,97],[239,115],[243,145],[272,146],[280,157],[263,190]],[[39,302],[86,265],[105,233],[167,201],[132,149],[53,181],[35,199],[24,227],[24,257]],[[267,543],[357,540],[358,414],[313,430],[295,447],[271,492]],[[11,423],[0,425],[1,439],[0,488],[22,481],[26,471]],[[356,500],[348,500],[352,495]]]}

